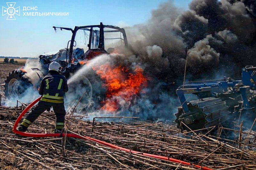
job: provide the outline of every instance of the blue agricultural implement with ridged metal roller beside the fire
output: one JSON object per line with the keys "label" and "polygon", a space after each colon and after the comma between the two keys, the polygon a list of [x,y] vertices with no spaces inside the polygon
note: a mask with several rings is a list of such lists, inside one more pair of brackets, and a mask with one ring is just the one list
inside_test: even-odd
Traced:
{"label": "blue agricultural implement with ridged metal roller beside the fire", "polygon": [[[184,130],[218,127],[227,121],[253,122],[256,117],[256,67],[232,78],[186,82],[176,90],[181,106],[175,122]],[[251,127],[251,123],[250,124]]]}

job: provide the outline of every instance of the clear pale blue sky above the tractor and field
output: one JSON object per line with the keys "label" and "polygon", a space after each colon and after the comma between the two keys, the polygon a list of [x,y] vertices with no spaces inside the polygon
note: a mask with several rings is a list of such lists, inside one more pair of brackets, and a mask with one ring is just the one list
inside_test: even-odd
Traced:
{"label": "clear pale blue sky above the tractor and field", "polygon": [[[52,26],[69,27],[84,25],[133,26],[145,23],[151,10],[167,0],[19,0],[20,16],[6,20],[0,17],[0,56],[38,57],[44,52],[58,52],[67,47],[70,31],[57,30]],[[192,0],[173,0],[175,6],[184,10]],[[8,8],[1,0],[0,5]],[[15,1],[11,1],[15,2]],[[24,6],[37,7],[35,11],[22,11]],[[23,16],[23,12],[68,12],[68,16]],[[3,13],[2,13],[3,14]]]}

